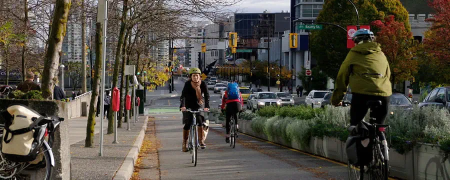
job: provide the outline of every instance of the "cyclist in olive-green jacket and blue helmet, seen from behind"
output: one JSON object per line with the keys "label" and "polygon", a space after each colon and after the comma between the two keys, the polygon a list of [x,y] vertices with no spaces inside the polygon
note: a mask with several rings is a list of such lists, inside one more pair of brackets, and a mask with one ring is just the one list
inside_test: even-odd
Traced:
{"label": "cyclist in olive-green jacket and blue helmet, seen from behind", "polygon": [[356,125],[367,113],[368,100],[380,100],[381,106],[371,109],[376,123],[382,124],[387,115],[392,94],[390,69],[373,32],[361,28],[353,35],[355,46],[340,65],[334,84],[332,105],[341,105],[349,85],[351,89],[350,125]]}

